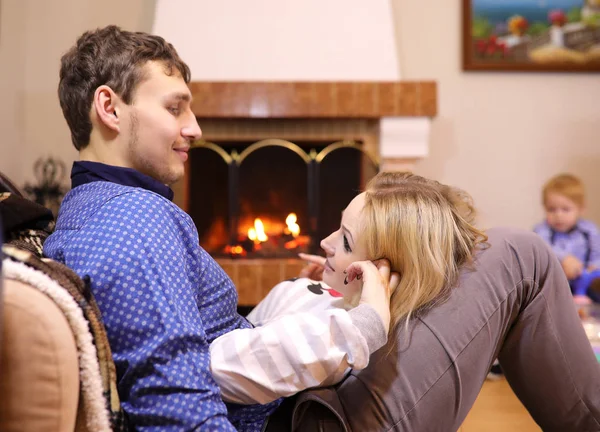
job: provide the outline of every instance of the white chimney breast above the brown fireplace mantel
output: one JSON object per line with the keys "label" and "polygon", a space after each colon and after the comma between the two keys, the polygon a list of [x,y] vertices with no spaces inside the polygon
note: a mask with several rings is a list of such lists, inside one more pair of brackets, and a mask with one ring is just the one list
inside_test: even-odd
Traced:
{"label": "white chimney breast above the brown fireplace mantel", "polygon": [[155,16],[193,80],[399,78],[389,0],[157,0]]}

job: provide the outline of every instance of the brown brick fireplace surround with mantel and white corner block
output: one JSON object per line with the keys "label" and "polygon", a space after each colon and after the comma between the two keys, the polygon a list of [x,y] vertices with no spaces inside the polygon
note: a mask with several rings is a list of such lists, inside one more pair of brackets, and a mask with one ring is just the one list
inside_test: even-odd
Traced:
{"label": "brown brick fireplace surround with mantel and white corner block", "polygon": [[[437,113],[437,86],[430,81],[192,82],[190,89],[205,141],[359,140],[382,170],[410,170],[426,156],[429,120]],[[173,189],[175,202],[188,211],[194,199],[188,176]],[[257,304],[303,267],[289,258],[217,261],[243,306]]]}

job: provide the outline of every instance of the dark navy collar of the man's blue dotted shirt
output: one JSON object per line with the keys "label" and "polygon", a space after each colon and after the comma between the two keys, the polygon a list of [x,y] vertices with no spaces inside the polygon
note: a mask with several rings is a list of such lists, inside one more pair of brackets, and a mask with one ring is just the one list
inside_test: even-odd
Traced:
{"label": "dark navy collar of the man's blue dotted shirt", "polygon": [[173,191],[170,187],[132,168],[90,161],[76,161],[73,163],[73,169],[71,170],[72,188],[95,181],[108,181],[123,186],[140,187],[155,192],[169,201],[173,200]]}

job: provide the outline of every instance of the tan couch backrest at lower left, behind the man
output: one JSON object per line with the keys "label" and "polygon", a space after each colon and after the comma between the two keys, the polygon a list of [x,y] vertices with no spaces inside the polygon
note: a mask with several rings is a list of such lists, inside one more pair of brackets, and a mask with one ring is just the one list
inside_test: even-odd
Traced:
{"label": "tan couch backrest at lower left, behind the man", "polygon": [[0,430],[72,432],[79,367],[64,315],[43,293],[4,279],[1,327]]}

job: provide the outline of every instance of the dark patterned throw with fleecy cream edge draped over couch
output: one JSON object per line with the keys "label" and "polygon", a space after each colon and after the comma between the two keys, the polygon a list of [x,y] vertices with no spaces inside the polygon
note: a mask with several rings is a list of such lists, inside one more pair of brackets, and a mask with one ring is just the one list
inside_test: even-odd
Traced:
{"label": "dark patterned throw with fleecy cream edge draped over couch", "polygon": [[[49,213],[24,198],[0,194],[0,217],[7,240],[2,247],[5,277],[39,289],[65,313],[79,353],[81,397],[88,429],[126,431],[126,417],[117,394],[115,366],[89,281],[82,280],[60,263],[42,258],[43,241],[54,227]],[[72,305],[80,312],[69,309]],[[77,322],[81,314],[83,325]],[[90,353],[93,354],[91,358]]]}

